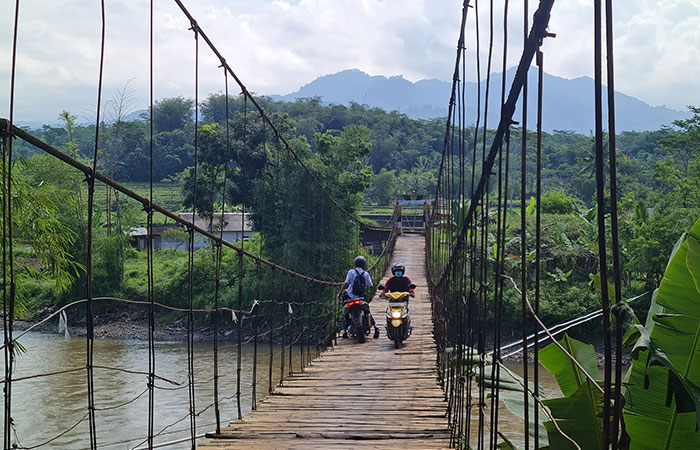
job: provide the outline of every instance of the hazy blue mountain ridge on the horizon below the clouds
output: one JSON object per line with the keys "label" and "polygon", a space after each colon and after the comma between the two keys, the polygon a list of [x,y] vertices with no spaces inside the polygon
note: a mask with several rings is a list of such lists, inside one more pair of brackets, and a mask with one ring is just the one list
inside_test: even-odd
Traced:
{"label": "hazy blue mountain ridge on the horizon below the clouds", "polygon": [[[506,72],[506,89],[510,88],[515,68]],[[495,128],[499,120],[502,74],[493,74],[489,98],[488,126]],[[529,74],[530,111],[528,128],[535,127],[537,106],[537,71]],[[477,84],[466,85],[466,115],[472,125],[476,117]],[[414,119],[433,119],[447,116],[451,83],[440,80],[410,82],[402,76],[370,76],[360,70],[344,70],[317,78],[288,95],[272,95],[274,100],[294,101],[299,98],[321,97],[328,104],[348,104],[353,101],[387,111],[399,111]],[[481,98],[486,93],[486,81],[481,83]],[[579,77],[566,79],[544,74],[545,131],[571,130],[589,134],[594,129],[593,79]],[[507,92],[506,92],[507,95]],[[607,89],[603,88],[604,98]],[[618,131],[657,130],[671,125],[674,120],[690,117],[686,112],[665,106],[650,106],[629,95],[615,93],[616,125]],[[519,120],[520,107],[516,110]],[[483,118],[482,118],[483,125]]]}

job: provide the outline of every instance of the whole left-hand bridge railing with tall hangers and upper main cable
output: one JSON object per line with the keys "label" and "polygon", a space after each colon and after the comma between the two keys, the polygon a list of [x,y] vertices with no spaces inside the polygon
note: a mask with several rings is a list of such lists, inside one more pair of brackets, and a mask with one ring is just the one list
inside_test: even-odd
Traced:
{"label": "whole left-hand bridge railing with tall hangers and upper main cable", "polygon": [[[204,30],[197,24],[194,17],[187,11],[184,5],[175,0],[182,12],[189,19],[191,31],[195,37],[195,127],[194,127],[194,204],[192,210],[197,211],[197,150],[198,150],[198,133],[199,133],[199,42],[203,40],[208,48],[213,52],[221,63],[221,68],[224,71],[225,82],[225,98],[226,102],[229,99],[229,78],[233,79],[241,90],[244,97],[246,109],[243,112],[243,151],[246,146],[246,125],[248,124],[247,109],[248,103],[257,112],[259,120],[262,121],[265,146],[268,139],[271,140],[271,146],[277,149],[277,156],[283,153],[288,158],[288,163],[294,164],[300,168],[305,174],[307,180],[310,181],[310,187],[314,192],[320,194],[323,203],[313,205],[314,208],[321,211],[321,219],[337,220],[337,217],[330,217],[332,214],[342,216],[345,221],[352,223],[352,226],[365,228],[369,230],[384,231],[386,227],[373,227],[366,224],[351,213],[347,208],[343,207],[331,194],[328,189],[322,184],[319,177],[310,170],[303,158],[297,155],[292,146],[287,142],[284,133],[282,133],[271,118],[262,109],[260,104],[248,91],[246,86],[236,76],[230,65],[223,58],[221,53],[216,49],[212,41],[208,38]],[[105,16],[104,4],[102,6],[102,47],[104,49],[105,41]],[[16,11],[19,14],[19,11]],[[17,24],[15,25],[17,28]],[[15,34],[16,36],[16,34]],[[152,38],[151,38],[152,39]],[[17,40],[13,44],[13,63],[12,72],[14,74],[15,58],[14,54],[17,49]],[[152,52],[152,49],[151,49]],[[101,58],[104,57],[104,50]],[[151,64],[151,105],[150,111],[153,112],[153,66]],[[143,439],[138,442],[137,439],[132,439],[129,442],[138,442],[134,448],[145,445],[146,448],[153,448],[157,444],[158,438],[169,436],[173,430],[182,428],[180,431],[189,434],[189,437],[183,439],[190,441],[192,448],[195,447],[196,439],[202,435],[200,430],[215,427],[216,435],[221,432],[222,423],[225,424],[227,419],[240,418],[247,409],[255,409],[258,400],[265,394],[264,388],[260,385],[265,381],[267,393],[272,392],[275,384],[282,384],[284,380],[293,373],[303,371],[309,362],[318,355],[324,348],[333,345],[340,326],[341,305],[337,299],[340,284],[335,281],[321,280],[312,276],[305,275],[299,271],[286,267],[283,264],[273,262],[263,257],[263,245],[265,242],[258,243],[257,248],[254,246],[248,247],[241,243],[228,242],[223,239],[223,227],[220,227],[219,232],[205,229],[197,226],[193,221],[183,219],[177,214],[168,211],[166,208],[159,206],[153,202],[153,189],[151,180],[150,195],[148,197],[141,196],[133,192],[126,186],[116,182],[109,176],[100,173],[98,170],[98,145],[100,141],[100,97],[102,86],[102,65],[100,66],[100,79],[98,89],[97,102],[97,119],[95,123],[95,142],[92,164],[88,165],[78,161],[77,159],[67,155],[59,149],[47,145],[45,142],[32,136],[30,133],[13,125],[13,105],[10,107],[9,120],[0,120],[0,136],[2,137],[3,150],[3,263],[5,272],[8,277],[5,277],[3,272],[4,294],[3,294],[3,320],[4,320],[4,342],[3,351],[5,356],[5,376],[2,380],[4,387],[4,448],[41,448],[47,445],[63,445],[64,439],[67,439],[75,430],[88,428],[89,433],[84,433],[83,440],[90,442],[90,447],[95,449],[98,447],[98,442],[101,445],[106,445],[104,439],[98,435],[100,427],[97,426],[97,418],[106,411],[110,410],[128,410],[131,416],[143,417]],[[14,75],[12,77],[11,91],[14,92]],[[13,97],[14,98],[14,97]],[[12,102],[11,102],[12,103]],[[229,126],[232,118],[229,117],[228,104],[226,106],[226,152],[230,154],[231,144],[229,139]],[[151,173],[153,173],[153,122],[150,121],[150,148],[149,160],[151,165]],[[268,134],[265,134],[268,133]],[[15,309],[15,284],[12,281],[12,274],[15,270],[13,263],[12,242],[14,241],[12,229],[12,202],[7,199],[12,196],[12,167],[14,163],[12,153],[12,142],[15,139],[21,139],[37,149],[42,150],[48,155],[62,161],[68,166],[80,172],[86,181],[88,191],[88,249],[87,267],[85,277],[87,278],[87,295],[84,299],[78,299],[71,303],[53,311],[47,317],[40,320],[38,323],[29,327],[22,333],[15,332],[14,325],[14,309]],[[279,162],[279,161],[278,161]],[[227,166],[228,167],[228,166]],[[274,168],[273,168],[274,169]],[[222,204],[222,220],[224,217],[223,207],[226,204],[226,182],[228,175],[224,172],[224,188],[222,189],[223,199]],[[147,214],[147,264],[143,274],[147,280],[148,294],[145,298],[117,298],[106,296],[94,296],[91,287],[93,272],[91,268],[92,258],[90,252],[92,249],[92,236],[94,226],[92,225],[94,215],[94,195],[98,186],[115,190],[132,202],[139,204]],[[311,198],[307,195],[307,198]],[[311,221],[310,211],[312,205],[308,205],[308,210],[305,211],[308,221]],[[327,212],[331,211],[331,212]],[[168,220],[179,224],[186,230],[187,233],[187,274],[183,284],[181,298],[173,299],[172,302],[156,301],[156,271],[154,270],[154,259],[158,257],[154,253],[153,248],[153,218],[155,214],[161,214]],[[194,215],[192,216],[194,218]],[[245,221],[245,211],[242,214],[242,220]],[[241,227],[245,229],[244,226]],[[311,227],[307,227],[305,233],[311,233]],[[391,221],[391,231],[388,241],[384,246],[384,250],[377,261],[369,269],[373,277],[380,277],[386,269],[394,242],[397,236],[396,218]],[[319,239],[323,236],[318,236]],[[210,295],[210,303],[207,307],[195,307],[195,284],[198,277],[203,276],[198,272],[195,257],[195,243],[199,240],[204,240],[210,243],[212,249],[211,266],[214,267],[213,278],[210,278],[213,292]],[[332,247],[332,243],[330,243]],[[255,249],[254,249],[255,248]],[[257,250],[257,251],[256,251]],[[279,249],[278,249],[279,250]],[[359,243],[358,243],[359,250]],[[257,253],[257,254],[256,254]],[[311,255],[308,255],[312,259]],[[236,260],[237,264],[233,264],[235,272],[229,276],[230,285],[224,285],[224,276],[222,274],[222,261],[226,259]],[[322,263],[322,261],[315,261]],[[229,264],[230,266],[230,264]],[[228,266],[227,266],[228,267]],[[222,306],[222,297],[226,295],[229,299],[233,298],[235,306]],[[230,303],[230,302],[229,302]],[[148,357],[146,361],[141,361],[143,369],[132,370],[123,367],[110,367],[100,365],[94,362],[95,355],[95,309],[101,304],[123,304],[129,305],[131,308],[136,308],[146,327],[148,341]],[[41,373],[32,372],[27,375],[16,376],[16,358],[17,351],[21,345],[21,339],[27,336],[29,331],[38,329],[42,325],[58,320],[60,317],[65,317],[65,312],[74,308],[81,308],[84,313],[85,336],[86,336],[86,351],[85,362],[68,361],[67,366],[49,368]],[[186,342],[187,342],[187,361],[186,375],[178,377],[163,373],[159,365],[158,351],[156,348],[156,333],[160,325],[156,319],[165,314],[179,314],[182,317],[182,322],[186,326]],[[231,326],[233,322],[233,327]],[[212,376],[200,379],[196,367],[200,367],[197,361],[197,353],[195,349],[197,329],[199,326],[213,329],[211,347],[212,355]],[[234,344],[222,341],[221,334],[235,333]],[[229,339],[230,341],[230,339]],[[222,347],[222,343],[227,344]],[[252,346],[252,350],[249,351]],[[199,349],[199,346],[197,346]],[[244,350],[246,349],[246,350]],[[245,369],[242,365],[243,353],[252,352],[252,365],[249,369]],[[226,366],[222,369],[222,361],[231,360],[235,355],[235,367],[232,369]],[[73,365],[71,365],[73,364]],[[222,370],[225,370],[222,371]],[[244,371],[250,370],[249,374]],[[96,385],[95,373],[109,372],[113,374],[122,374],[124,376],[135,377],[134,383],[143,383],[143,391],[134,395],[131,398],[122,399],[123,401],[117,405],[109,407],[100,404],[96,400],[96,392],[105,386]],[[86,401],[85,409],[75,417],[75,421],[71,422],[65,429],[48,430],[42,428],[43,434],[32,433],[27,436],[23,433],[18,433],[18,428],[21,429],[19,417],[15,414],[16,403],[13,403],[12,388],[18,383],[32,383],[42,379],[54,379],[55,377],[65,375],[76,375],[85,377],[86,385]],[[248,382],[244,380],[248,379]],[[266,379],[266,380],[265,380]],[[122,380],[116,380],[121,382]],[[226,387],[221,382],[226,381]],[[230,383],[235,383],[233,391],[230,388]],[[246,386],[246,384],[248,386]],[[107,387],[108,388],[108,387]],[[165,398],[167,392],[179,392],[187,390],[187,412],[182,417],[177,417],[170,421],[158,415],[157,406],[159,399]],[[244,402],[247,397],[244,390],[250,390],[250,403],[246,405]],[[211,392],[211,401],[197,401],[199,392],[202,390]],[[143,403],[147,399],[147,404]],[[231,417],[231,407],[233,405],[233,417]],[[248,408],[249,407],[249,408]],[[132,408],[132,409],[130,409]],[[135,409],[134,409],[135,408]],[[146,410],[144,413],[144,409]],[[214,423],[202,424],[202,417],[213,412]],[[228,414],[228,417],[226,415]],[[71,419],[72,420],[72,419]],[[164,422],[164,420],[166,420]],[[189,422],[189,423],[188,423]],[[65,422],[63,422],[65,423]],[[187,426],[181,425],[188,423]],[[25,440],[34,439],[34,442],[24,444]],[[75,437],[71,437],[75,442]],[[127,442],[128,443],[128,442]],[[109,443],[108,443],[109,444]]]}

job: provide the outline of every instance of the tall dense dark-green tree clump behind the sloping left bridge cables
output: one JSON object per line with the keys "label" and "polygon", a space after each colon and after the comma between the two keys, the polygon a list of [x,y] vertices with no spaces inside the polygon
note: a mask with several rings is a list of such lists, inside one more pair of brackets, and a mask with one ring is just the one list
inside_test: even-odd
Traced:
{"label": "tall dense dark-green tree clump behind the sloping left bridge cables", "polygon": [[[300,139],[290,141],[301,158],[346,211],[358,211],[371,181],[367,129],[316,136],[316,153]],[[357,251],[357,227],[332,205],[287,152],[268,149],[269,163],[248,204],[265,253],[275,262],[323,279],[341,278]]]}

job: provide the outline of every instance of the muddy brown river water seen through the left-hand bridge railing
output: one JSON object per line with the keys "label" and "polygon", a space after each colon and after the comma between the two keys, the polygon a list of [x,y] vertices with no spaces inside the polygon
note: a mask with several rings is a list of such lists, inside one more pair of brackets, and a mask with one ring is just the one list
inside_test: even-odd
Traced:
{"label": "muddy brown river water seen through the left-hand bridge railing", "polygon": [[[21,340],[26,352],[16,359],[14,377],[26,377],[56,372],[85,365],[85,339],[64,339],[62,336],[28,333]],[[156,343],[157,375],[183,382],[187,376],[187,344],[183,342]],[[274,348],[274,383],[279,381],[281,347]],[[243,346],[241,358],[241,410],[251,409],[253,373],[253,345]],[[286,354],[288,366],[289,355]],[[299,349],[293,352],[294,367],[299,369]],[[237,346],[225,345],[219,349],[219,398],[221,422],[225,426],[236,419]],[[195,344],[196,410],[213,403],[213,350],[211,344]],[[261,399],[267,394],[268,344],[258,346],[257,392]],[[148,371],[148,342],[140,340],[95,340],[94,365],[110,366],[130,371]],[[4,362],[3,362],[4,366]],[[4,367],[3,367],[4,370]],[[4,372],[3,372],[4,373]],[[148,434],[147,377],[106,369],[94,370],[97,442],[105,449],[132,449],[142,446]],[[187,383],[181,388],[164,381],[155,391],[156,433],[167,428],[155,439],[156,443],[177,441],[190,436],[189,394]],[[174,389],[175,388],[175,389]],[[141,397],[138,397],[140,394]],[[135,400],[134,400],[135,399]],[[130,400],[133,402],[126,404]],[[123,406],[120,406],[123,405]],[[75,425],[87,413],[87,384],[85,370],[57,374],[50,377],[20,380],[12,385],[12,417],[15,436],[22,447],[32,447],[57,436]],[[182,419],[180,422],[178,420]],[[210,407],[197,417],[197,434],[213,432],[214,408]],[[173,425],[174,424],[174,425]],[[64,436],[40,448],[89,448],[87,420]],[[168,448],[189,448],[188,442]]]}

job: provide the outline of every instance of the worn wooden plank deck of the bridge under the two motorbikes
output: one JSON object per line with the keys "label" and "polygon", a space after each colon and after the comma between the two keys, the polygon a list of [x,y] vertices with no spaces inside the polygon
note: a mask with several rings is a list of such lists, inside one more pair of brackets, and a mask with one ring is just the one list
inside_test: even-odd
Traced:
{"label": "worn wooden plank deck of the bridge under the two motorbikes", "polygon": [[[222,428],[199,449],[447,449],[445,402],[436,384],[435,345],[425,279],[425,241],[399,237],[392,263],[418,286],[413,335],[395,350],[383,329],[385,304],[372,302],[379,339],[338,339],[256,411]],[[384,278],[386,280],[386,277]],[[372,280],[378,284],[381,280]]]}

